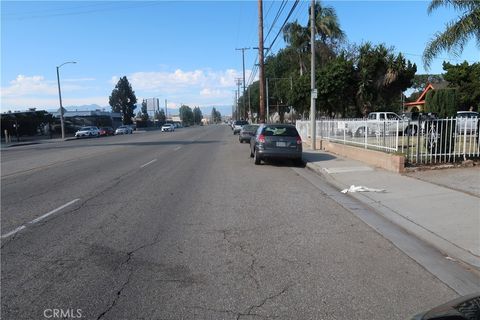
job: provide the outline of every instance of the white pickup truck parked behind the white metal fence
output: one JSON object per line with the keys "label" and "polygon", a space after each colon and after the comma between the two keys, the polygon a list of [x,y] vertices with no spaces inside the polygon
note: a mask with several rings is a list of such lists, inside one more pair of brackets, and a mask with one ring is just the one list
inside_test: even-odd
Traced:
{"label": "white pickup truck parked behind the white metal fence", "polygon": [[395,112],[371,112],[367,119],[348,123],[348,131],[355,137],[375,134],[409,133],[408,120]]}

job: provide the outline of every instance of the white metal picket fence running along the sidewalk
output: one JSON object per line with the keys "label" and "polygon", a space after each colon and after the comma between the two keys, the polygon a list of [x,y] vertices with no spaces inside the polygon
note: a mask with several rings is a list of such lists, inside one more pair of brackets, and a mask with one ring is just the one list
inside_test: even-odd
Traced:
{"label": "white metal picket fence running along the sidewalk", "polygon": [[[310,139],[310,121],[297,121],[303,140]],[[480,157],[479,119],[448,118],[376,121],[316,121],[317,139],[405,155],[408,163],[449,163]]]}

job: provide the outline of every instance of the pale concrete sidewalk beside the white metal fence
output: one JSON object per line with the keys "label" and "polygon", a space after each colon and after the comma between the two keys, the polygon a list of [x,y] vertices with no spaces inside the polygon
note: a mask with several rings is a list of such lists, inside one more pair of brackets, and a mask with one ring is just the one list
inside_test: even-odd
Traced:
{"label": "pale concrete sidewalk beside the white metal fence", "polygon": [[[304,151],[307,167],[324,176],[340,192],[350,186],[385,192],[349,193],[408,232],[438,248],[446,257],[480,270],[480,168],[444,174],[387,172],[360,161],[324,151]],[[422,180],[420,180],[422,179]],[[450,188],[449,185],[454,186]],[[463,190],[462,190],[463,189]]]}

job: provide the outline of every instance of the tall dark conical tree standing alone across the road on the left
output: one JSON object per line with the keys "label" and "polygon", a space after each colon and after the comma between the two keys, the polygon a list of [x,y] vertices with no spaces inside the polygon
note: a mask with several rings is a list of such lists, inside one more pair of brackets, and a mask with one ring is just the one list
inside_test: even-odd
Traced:
{"label": "tall dark conical tree standing alone across the road on the left", "polygon": [[118,80],[108,102],[112,107],[112,112],[120,112],[122,114],[123,124],[133,123],[132,118],[135,115],[135,108],[137,107],[135,105],[137,103],[137,97],[126,76]]}

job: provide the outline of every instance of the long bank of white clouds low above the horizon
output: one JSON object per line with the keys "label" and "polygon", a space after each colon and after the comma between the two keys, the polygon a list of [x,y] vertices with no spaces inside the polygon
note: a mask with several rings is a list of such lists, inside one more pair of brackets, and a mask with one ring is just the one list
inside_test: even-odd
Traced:
{"label": "long bank of white clouds low above the horizon", "polygon": [[[209,68],[173,71],[135,72],[127,75],[138,101],[146,98],[168,100],[169,108],[189,106],[231,105],[234,99],[236,78],[242,72],[235,69],[213,70]],[[246,71],[246,79],[250,70]],[[95,78],[62,79],[62,100],[64,106],[98,104],[108,106],[108,96],[118,83],[119,76],[112,76],[108,83],[100,84]],[[57,79],[48,80],[43,76],[18,75],[16,79],[1,88],[2,111],[8,109],[57,108]],[[88,83],[88,86],[87,86]],[[69,94],[63,93],[69,92]],[[75,93],[75,94],[73,94]],[[102,96],[104,95],[104,96]]]}

